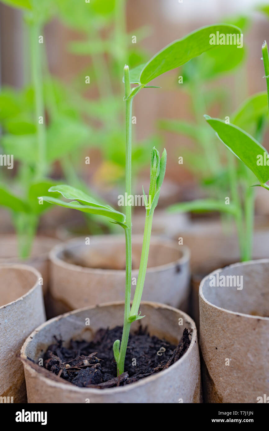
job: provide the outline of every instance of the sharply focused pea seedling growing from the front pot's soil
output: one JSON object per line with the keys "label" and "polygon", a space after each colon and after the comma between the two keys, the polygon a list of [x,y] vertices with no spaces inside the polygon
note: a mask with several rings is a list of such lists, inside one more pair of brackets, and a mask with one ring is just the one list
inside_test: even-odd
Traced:
{"label": "sharply focused pea seedling growing from the front pot's soil", "polygon": [[[159,51],[146,64],[129,71],[129,67],[124,67],[124,101],[125,101],[125,136],[126,136],[126,165],[125,165],[125,184],[127,196],[131,196],[132,181],[132,105],[133,99],[143,88],[158,88],[153,85],[148,85],[150,81],[157,78],[169,70],[175,69],[189,61],[191,58],[200,55],[201,53],[212,48],[209,44],[209,35],[216,31],[229,33],[231,30],[234,33],[240,33],[240,29],[230,25],[213,25],[204,27],[188,34],[183,39],[172,42],[170,45]],[[131,87],[131,84],[136,86]],[[56,203],[67,208],[79,209],[82,212],[90,212],[93,214],[104,215],[113,219],[114,223],[119,224],[125,231],[126,241],[126,278],[125,278],[125,305],[123,319],[123,334],[121,342],[114,342],[113,351],[114,359],[117,362],[118,375],[124,372],[124,361],[127,350],[128,338],[132,322],[142,319],[139,313],[139,306],[142,297],[144,281],[146,277],[147,262],[149,256],[150,237],[152,229],[153,213],[158,203],[160,189],[165,177],[166,167],[166,150],[163,151],[161,157],[155,147],[152,149],[150,156],[150,185],[149,195],[146,197],[143,189],[146,220],[144,235],[142,241],[142,252],[139,265],[139,274],[136,284],[136,290],[131,306],[131,271],[132,271],[132,213],[131,206],[126,206],[125,214],[116,211],[111,206],[102,205],[98,200],[67,185],[57,185],[49,189],[51,192],[58,192],[67,200],[65,202],[55,197],[43,196],[42,200],[49,203]]]}

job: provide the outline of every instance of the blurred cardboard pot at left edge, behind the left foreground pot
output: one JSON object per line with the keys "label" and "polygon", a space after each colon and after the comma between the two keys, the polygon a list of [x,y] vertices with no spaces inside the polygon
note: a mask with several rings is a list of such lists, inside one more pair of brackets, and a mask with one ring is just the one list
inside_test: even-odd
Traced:
{"label": "blurred cardboard pot at left edge, behind the left foreground pot", "polygon": [[43,291],[47,291],[49,278],[48,253],[59,240],[38,236],[33,241],[32,253],[28,259],[18,257],[18,241],[16,235],[0,235],[0,263],[25,263],[41,272]]}

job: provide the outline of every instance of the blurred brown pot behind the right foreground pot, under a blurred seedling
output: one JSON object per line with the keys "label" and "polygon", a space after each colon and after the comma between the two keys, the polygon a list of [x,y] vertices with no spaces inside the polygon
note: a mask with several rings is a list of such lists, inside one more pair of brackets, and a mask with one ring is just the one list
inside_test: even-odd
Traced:
{"label": "blurred brown pot behind the right foreground pot, under a blurred seedling", "polygon": [[[229,227],[225,233],[218,220],[193,222],[181,229],[175,239],[183,239],[183,244],[190,249],[191,301],[190,315],[199,329],[199,284],[205,275],[217,268],[222,268],[240,261],[240,252],[236,229]],[[264,218],[256,217],[253,234],[253,259],[269,256],[269,228]]]}

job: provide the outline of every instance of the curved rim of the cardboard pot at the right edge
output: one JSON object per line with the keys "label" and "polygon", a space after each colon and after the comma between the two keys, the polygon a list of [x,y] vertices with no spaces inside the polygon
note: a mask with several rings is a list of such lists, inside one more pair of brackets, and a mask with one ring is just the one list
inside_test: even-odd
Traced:
{"label": "curved rim of the cardboard pot at the right edge", "polygon": [[247,314],[247,313],[241,313],[241,312],[237,312],[237,311],[232,311],[232,310],[228,310],[226,308],[223,307],[219,307],[213,303],[211,303],[209,300],[206,299],[206,297],[203,294],[203,287],[204,284],[206,283],[206,281],[209,279],[209,277],[211,275],[216,274],[217,272],[220,273],[222,272],[224,269],[226,268],[237,268],[238,266],[247,266],[247,265],[255,265],[256,263],[268,263],[269,264],[269,259],[254,259],[254,260],[248,260],[247,262],[237,262],[237,263],[233,263],[232,265],[227,265],[223,268],[219,268],[219,269],[215,269],[214,271],[210,272],[210,274],[206,275],[203,280],[201,281],[200,285],[199,285],[199,297],[208,305],[212,306],[215,309],[221,310],[223,312],[226,313],[230,313],[230,314],[234,314],[234,315],[240,315],[240,316],[244,316],[244,317],[248,317],[250,319],[262,319],[265,321],[269,322],[269,317],[264,317],[264,316],[260,316],[260,315],[251,315],[251,314]]}

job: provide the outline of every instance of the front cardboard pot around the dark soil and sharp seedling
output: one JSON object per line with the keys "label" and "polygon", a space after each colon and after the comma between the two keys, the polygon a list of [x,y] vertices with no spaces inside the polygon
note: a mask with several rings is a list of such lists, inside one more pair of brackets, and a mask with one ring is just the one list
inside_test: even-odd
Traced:
{"label": "front cardboard pot around the dark soil and sharp seedling", "polygon": [[[192,331],[190,347],[171,367],[136,383],[110,389],[77,387],[25,360],[28,356],[37,362],[54,342],[54,335],[67,343],[71,338],[92,340],[99,328],[122,325],[123,309],[123,303],[102,304],[66,313],[37,328],[21,350],[28,403],[199,403],[200,363],[195,323],[184,312],[163,304],[143,302],[140,309],[146,317],[142,324],[151,335],[174,344],[187,327]],[[85,326],[87,318],[90,326]],[[183,325],[179,325],[181,318]],[[131,331],[138,326],[139,322],[133,323]]]}

